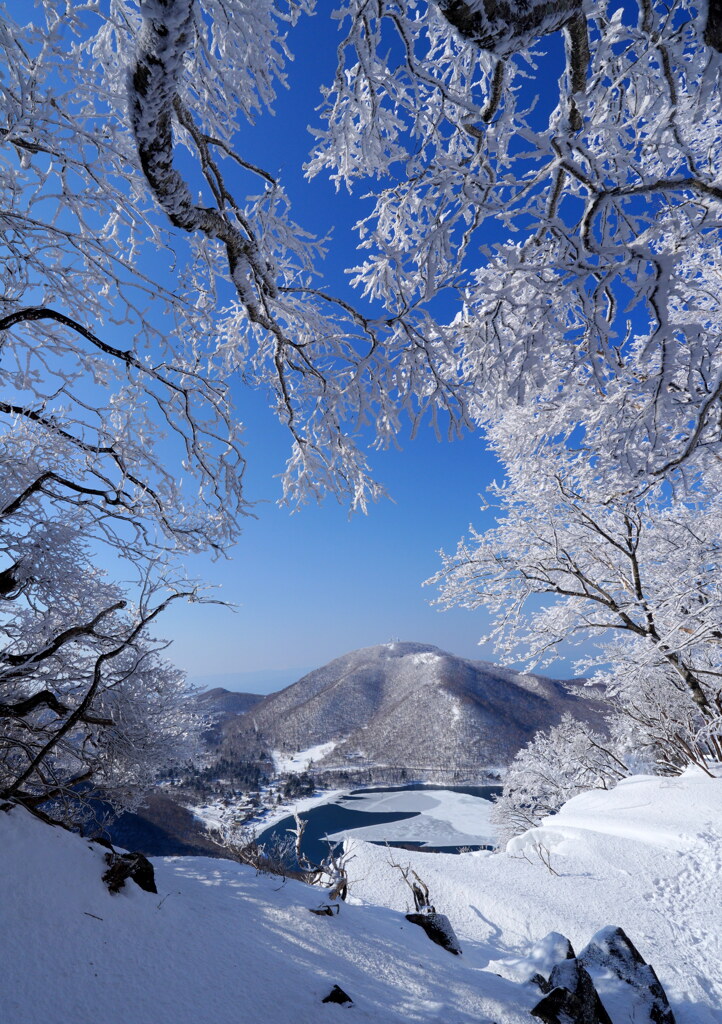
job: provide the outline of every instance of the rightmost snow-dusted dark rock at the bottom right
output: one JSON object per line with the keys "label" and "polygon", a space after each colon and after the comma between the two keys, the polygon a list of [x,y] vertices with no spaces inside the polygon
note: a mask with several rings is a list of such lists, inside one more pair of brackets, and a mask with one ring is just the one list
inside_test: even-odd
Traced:
{"label": "rightmost snow-dusted dark rock at the bottom right", "polygon": [[[623,929],[602,928],[580,953],[580,963],[629,1007],[630,1019],[640,1024],[675,1024],[667,993]],[[614,985],[614,982],[617,984]]]}

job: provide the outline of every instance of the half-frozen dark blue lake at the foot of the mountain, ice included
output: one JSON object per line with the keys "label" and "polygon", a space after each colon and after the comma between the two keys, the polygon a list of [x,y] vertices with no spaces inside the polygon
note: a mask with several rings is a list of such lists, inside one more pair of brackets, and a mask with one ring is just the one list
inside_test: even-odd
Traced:
{"label": "half-frozen dark blue lake at the foot of the mountain, ice included", "polygon": [[[500,792],[498,785],[354,790],[301,814],[307,821],[302,849],[317,863],[328,853],[325,838],[341,842],[342,834],[382,845],[443,853],[490,849],[495,843],[489,821],[491,798]],[[294,826],[293,817],[283,818],[261,833],[259,842],[283,839]]]}

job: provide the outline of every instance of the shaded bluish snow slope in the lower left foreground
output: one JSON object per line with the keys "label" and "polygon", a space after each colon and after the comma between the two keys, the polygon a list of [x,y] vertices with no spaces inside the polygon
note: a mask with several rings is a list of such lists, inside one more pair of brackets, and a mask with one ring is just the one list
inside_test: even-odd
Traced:
{"label": "shaded bluish snow slope in the lower left foreground", "polygon": [[385,908],[320,918],[323,891],[203,858],[157,861],[157,896],[112,896],[97,847],[19,810],[0,834],[3,1024],[318,1024],[350,1012],[322,1004],[334,984],[378,1024],[481,1024],[517,999],[480,974],[484,945],[454,957]]}

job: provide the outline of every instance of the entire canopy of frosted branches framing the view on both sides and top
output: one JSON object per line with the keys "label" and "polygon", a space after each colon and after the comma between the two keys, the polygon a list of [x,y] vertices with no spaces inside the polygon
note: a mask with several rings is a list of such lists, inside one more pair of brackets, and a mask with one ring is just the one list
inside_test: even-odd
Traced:
{"label": "entire canopy of frosted branches framing the view on both sides and top", "polygon": [[[629,634],[604,656],[652,689],[681,685],[683,741],[709,733],[718,5],[340,3],[307,173],[374,196],[352,300],[326,287],[327,242],[296,222],[283,182],[243,153],[294,28],[325,9],[13,13],[0,29],[5,795],[73,788],[120,722],[102,694],[160,678],[174,692],[147,627],[198,596],[184,553],[238,535],[233,375],[288,428],[291,503],[332,493],[365,510],[381,494],[369,438],[392,443],[405,420],[482,431],[507,471],[500,524],[447,561],[445,598],[482,591],[510,654]],[[131,594],[94,569],[97,545],[135,567]],[[561,603],[525,625],[534,594]],[[114,734],[128,749],[130,732]],[[46,770],[61,750],[65,768]]]}

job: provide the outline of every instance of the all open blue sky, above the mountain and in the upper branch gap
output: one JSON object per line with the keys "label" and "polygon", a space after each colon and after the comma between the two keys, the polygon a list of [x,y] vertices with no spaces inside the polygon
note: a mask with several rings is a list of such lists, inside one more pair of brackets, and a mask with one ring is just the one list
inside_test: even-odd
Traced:
{"label": "all open blue sky, above the mountain and in the upper branch gap", "polygon": [[[347,289],[341,268],[356,259],[351,226],[369,210],[368,201],[336,193],[321,178],[309,183],[301,171],[320,86],[333,80],[335,33],[336,24],[323,13],[293,30],[291,88],[280,95],[275,116],[249,127],[238,146],[244,158],[280,175],[303,226],[320,234],[333,227],[327,270],[339,292]],[[228,561],[197,559],[189,570],[220,585],[218,596],[237,608],[175,606],[161,627],[173,640],[170,656],[195,681],[256,691],[391,637],[493,660],[493,651],[477,645],[485,629],[481,614],[433,608],[433,590],[421,587],[438,568],[439,548],[455,547],[469,522],[492,522],[479,511],[478,495],[499,471],[480,436],[438,442],[426,430],[400,452],[373,455],[393,502],[368,516],[349,519],[332,500],[291,515],[275,504],[288,452],[284,428],[260,394],[239,386],[236,402],[246,425],[247,496],[258,503],[258,518],[248,520]]]}

